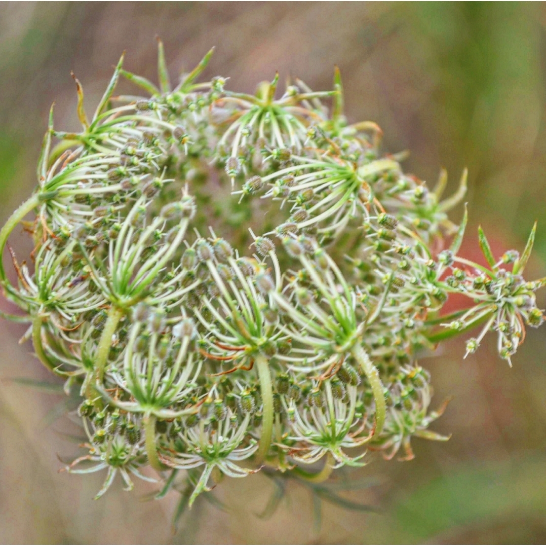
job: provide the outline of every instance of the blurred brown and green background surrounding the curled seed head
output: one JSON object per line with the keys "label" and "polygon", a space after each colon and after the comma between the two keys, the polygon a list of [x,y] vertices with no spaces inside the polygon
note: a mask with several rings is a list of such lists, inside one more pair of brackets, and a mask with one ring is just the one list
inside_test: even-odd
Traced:
{"label": "blurred brown and green background surrounding the curled seed head", "polygon": [[[127,69],[155,77],[156,36],[173,78],[216,45],[205,77],[229,76],[230,89],[247,92],[276,69],[330,89],[339,65],[349,119],[378,122],[385,149],[410,150],[408,172],[434,183],[445,167],[453,189],[468,167],[464,253],[479,259],[478,221],[499,255],[521,251],[538,219],[526,276],[546,274],[543,3],[2,3],[2,221],[36,183],[50,104],[56,128],[78,128],[70,70],[92,110],[123,50]],[[144,502],[152,488],[139,483],[95,502],[103,474],[57,472],[57,455],[77,449],[63,435],[69,420],[57,418],[70,401],[55,385],[25,384],[54,379],[17,344],[23,332],[0,324],[0,543],[546,542],[546,327],[529,332],[512,369],[493,338],[464,361],[461,340],[421,361],[436,405],[454,396],[433,426],[453,436],[414,440],[411,462],[371,455],[349,473],[356,484],[339,495],[377,512],[323,501],[318,524],[310,491],[289,483],[260,518],[274,486],[258,475],[223,483],[213,494],[226,510],[198,502],[177,531],[175,495]]]}

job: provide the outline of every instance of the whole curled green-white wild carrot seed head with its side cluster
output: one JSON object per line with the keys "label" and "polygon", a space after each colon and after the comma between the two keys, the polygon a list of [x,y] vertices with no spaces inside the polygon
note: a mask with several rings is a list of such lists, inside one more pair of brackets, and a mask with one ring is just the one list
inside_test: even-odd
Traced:
{"label": "whole curled green-white wild carrot seed head with its side cluster", "polygon": [[[221,473],[411,459],[412,437],[446,439],[419,351],[482,324],[467,352],[496,331],[510,362],[543,321],[546,282],[521,276],[534,228],[521,256],[496,260],[480,231],[489,267],[460,257],[466,213],[447,212],[466,174],[441,200],[445,175],[429,190],[403,173],[377,125],[346,121],[339,72],[330,92],[296,80],[276,98],[276,76],[246,95],[196,83],[209,57],[174,89],[161,45],[159,87],[120,61],[91,121],[76,80],[82,131],[51,112],[39,185],[0,232],[3,250],[35,213],[32,265],[12,252],[0,280],[80,391],[87,453],[66,470],[107,470],[97,497],[118,472],[161,496],[185,475],[193,501]],[[120,75],[146,96],[112,96]],[[468,308],[442,316],[450,294]]]}

